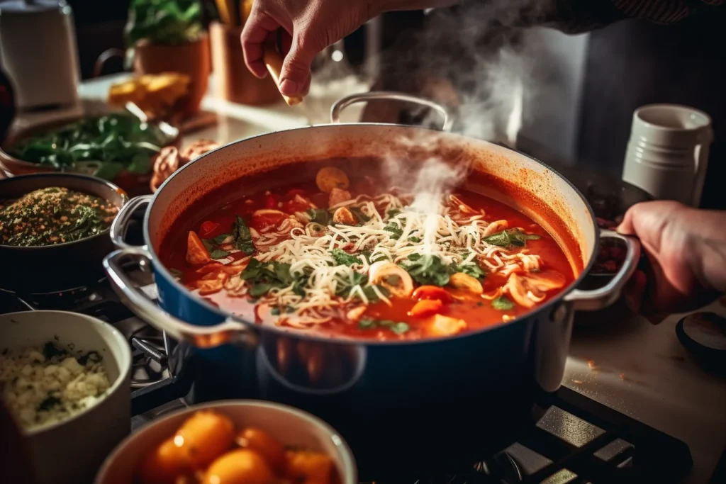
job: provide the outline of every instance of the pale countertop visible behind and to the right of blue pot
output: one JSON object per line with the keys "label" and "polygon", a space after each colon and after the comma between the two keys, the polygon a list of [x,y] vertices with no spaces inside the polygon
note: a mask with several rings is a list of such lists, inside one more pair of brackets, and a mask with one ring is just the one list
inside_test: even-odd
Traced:
{"label": "pale countertop visible behind and to the right of blue pot", "polygon": [[[81,99],[86,105],[103,102],[110,84],[121,78],[123,75],[115,75],[83,83]],[[202,107],[216,112],[218,123],[188,136],[187,141],[204,138],[227,143],[269,131],[328,123],[335,99],[367,90],[367,84],[355,78],[325,86],[314,84],[306,101],[295,107],[282,101],[270,107],[248,107],[209,95]],[[82,109],[52,116],[64,117]],[[359,108],[351,108],[344,120],[356,120],[359,112]],[[17,124],[52,116],[23,115]],[[726,316],[726,303],[714,303],[708,310]],[[726,380],[705,372],[690,359],[675,335],[680,316],[671,316],[658,326],[639,316],[612,316],[610,321],[604,320],[603,313],[579,317],[600,321],[576,327],[563,385],[685,441],[694,462],[685,482],[706,483],[726,447]]]}

